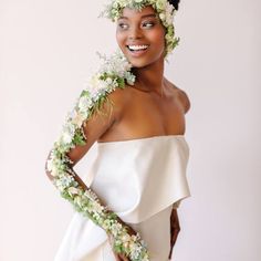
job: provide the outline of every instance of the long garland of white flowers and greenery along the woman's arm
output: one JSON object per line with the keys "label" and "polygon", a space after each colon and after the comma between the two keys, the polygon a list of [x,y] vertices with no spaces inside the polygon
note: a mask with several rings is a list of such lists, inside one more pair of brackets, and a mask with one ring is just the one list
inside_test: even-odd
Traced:
{"label": "long garland of white flowers and greenery along the woman's arm", "polygon": [[84,145],[86,137],[83,127],[86,121],[101,108],[106,97],[116,88],[124,88],[126,83],[133,85],[135,76],[132,65],[122,52],[111,58],[102,56],[104,64],[91,80],[91,87],[84,90],[76,101],[74,109],[67,114],[60,138],[54,143],[46,161],[46,170],[52,175],[53,184],[61,196],[67,199],[76,211],[88,217],[97,226],[114,237],[114,251],[124,253],[133,261],[148,261],[146,243],[139,233],[129,234],[127,227],[117,221],[115,212],[102,206],[92,189],[84,189],[74,178],[75,173],[70,167],[73,161],[66,153],[76,145]]}

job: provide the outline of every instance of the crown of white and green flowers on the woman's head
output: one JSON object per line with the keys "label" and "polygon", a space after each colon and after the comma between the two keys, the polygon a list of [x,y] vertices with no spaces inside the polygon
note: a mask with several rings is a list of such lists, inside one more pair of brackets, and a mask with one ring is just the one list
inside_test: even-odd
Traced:
{"label": "crown of white and green flowers on the woman's head", "polygon": [[105,11],[102,14],[115,22],[122,15],[124,8],[132,8],[140,11],[147,6],[152,6],[154,8],[166,29],[165,40],[167,55],[171,53],[180,40],[175,36],[174,15],[176,9],[168,2],[168,0],[112,0],[112,2],[106,6]]}

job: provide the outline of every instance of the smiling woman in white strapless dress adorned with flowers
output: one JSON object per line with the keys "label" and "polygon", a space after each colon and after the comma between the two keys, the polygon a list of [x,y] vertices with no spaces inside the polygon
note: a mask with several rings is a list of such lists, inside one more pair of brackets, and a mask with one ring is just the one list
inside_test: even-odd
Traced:
{"label": "smiling woman in white strapless dress adorned with flowers", "polygon": [[[178,43],[170,21],[178,2],[114,0],[106,9],[124,55],[105,61],[83,91],[46,160],[48,177],[87,217],[74,217],[55,261],[171,257],[177,207],[190,196],[184,136],[190,103],[164,76]],[[73,166],[95,143],[88,188]]]}

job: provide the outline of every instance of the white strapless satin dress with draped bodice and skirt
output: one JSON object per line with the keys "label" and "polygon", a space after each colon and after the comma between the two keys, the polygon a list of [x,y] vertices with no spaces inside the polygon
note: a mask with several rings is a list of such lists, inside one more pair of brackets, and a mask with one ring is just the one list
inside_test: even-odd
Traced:
{"label": "white strapless satin dress with draped bodice and skirt", "polygon": [[[147,243],[152,261],[167,261],[173,206],[190,197],[184,135],[97,143],[91,188]],[[106,232],[75,213],[54,261],[115,261]]]}

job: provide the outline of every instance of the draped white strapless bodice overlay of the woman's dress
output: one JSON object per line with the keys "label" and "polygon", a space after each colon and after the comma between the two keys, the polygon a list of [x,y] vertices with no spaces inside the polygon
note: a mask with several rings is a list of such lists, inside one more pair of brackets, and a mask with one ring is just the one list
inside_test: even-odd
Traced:
{"label": "draped white strapless bodice overlay of the woman's dress", "polygon": [[126,222],[142,222],[190,196],[184,135],[97,143],[97,153],[91,188]]}

